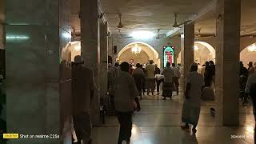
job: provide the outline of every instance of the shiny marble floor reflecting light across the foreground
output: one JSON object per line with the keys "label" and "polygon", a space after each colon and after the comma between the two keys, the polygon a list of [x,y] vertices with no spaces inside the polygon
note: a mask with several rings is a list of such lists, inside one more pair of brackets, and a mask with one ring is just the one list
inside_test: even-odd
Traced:
{"label": "shiny marble floor reflecting light across the foreground", "polygon": [[[222,126],[218,114],[210,115],[215,102],[203,102],[198,132],[184,131],[182,126],[182,100],[162,100],[159,96],[144,96],[142,110],[134,114],[132,144],[247,144],[254,143],[254,117],[251,106],[240,105],[240,126]],[[107,117],[106,124],[94,127],[93,144],[116,144],[118,120]]]}

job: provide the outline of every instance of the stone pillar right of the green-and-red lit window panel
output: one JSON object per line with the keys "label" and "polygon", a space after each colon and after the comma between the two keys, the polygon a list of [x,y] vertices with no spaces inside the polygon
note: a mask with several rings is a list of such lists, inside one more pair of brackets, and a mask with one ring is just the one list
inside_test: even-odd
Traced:
{"label": "stone pillar right of the green-and-red lit window panel", "polygon": [[190,71],[190,65],[194,62],[194,22],[184,26],[181,37],[182,52],[182,78],[181,88],[183,91],[186,87],[186,75]]}

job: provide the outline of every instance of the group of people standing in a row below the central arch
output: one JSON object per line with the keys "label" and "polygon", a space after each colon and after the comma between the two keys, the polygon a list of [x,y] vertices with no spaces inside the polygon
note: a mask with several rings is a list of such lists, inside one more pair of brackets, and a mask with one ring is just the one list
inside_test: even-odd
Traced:
{"label": "group of people standing in a row below the central arch", "polygon": [[[114,76],[118,75],[118,71],[120,71],[120,67],[118,63],[115,63],[114,66],[109,65],[109,86],[111,85]],[[129,74],[134,78],[134,82],[136,84],[138,93],[142,99],[142,94],[145,93],[147,95],[154,95],[155,88],[157,87],[157,92],[160,94],[160,85],[162,86],[162,96],[163,99],[171,98],[173,90],[177,91],[178,95],[178,86],[179,86],[179,78],[181,76],[180,71],[177,66],[170,62],[166,63],[166,68],[162,71],[158,68],[158,65],[155,64],[151,60],[149,64],[145,67],[142,64],[137,63],[136,67],[130,65]]]}

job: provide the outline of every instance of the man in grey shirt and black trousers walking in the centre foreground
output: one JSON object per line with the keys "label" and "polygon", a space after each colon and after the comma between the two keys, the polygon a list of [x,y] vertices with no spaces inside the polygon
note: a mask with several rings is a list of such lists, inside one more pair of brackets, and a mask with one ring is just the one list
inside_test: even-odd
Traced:
{"label": "man in grey shirt and black trousers walking in the centre foreground", "polygon": [[[132,129],[132,113],[140,110],[138,90],[134,78],[129,74],[129,63],[122,62],[121,72],[114,78],[111,93],[114,95],[114,106],[120,124],[118,144],[122,141],[130,142]],[[136,105],[135,105],[136,102]]]}

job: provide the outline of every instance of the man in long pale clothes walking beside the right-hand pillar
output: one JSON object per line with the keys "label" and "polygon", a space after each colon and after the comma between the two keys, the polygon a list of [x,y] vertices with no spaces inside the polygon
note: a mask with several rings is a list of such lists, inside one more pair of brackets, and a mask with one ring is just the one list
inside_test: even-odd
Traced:
{"label": "man in long pale clothes walking beside the right-hand pillar", "polygon": [[200,114],[200,102],[202,87],[204,86],[204,79],[201,74],[198,74],[198,65],[193,63],[190,66],[190,73],[186,77],[186,100],[182,107],[182,122],[186,125],[182,126],[183,130],[190,129],[189,124],[193,125],[193,133],[196,133],[196,126]]}

